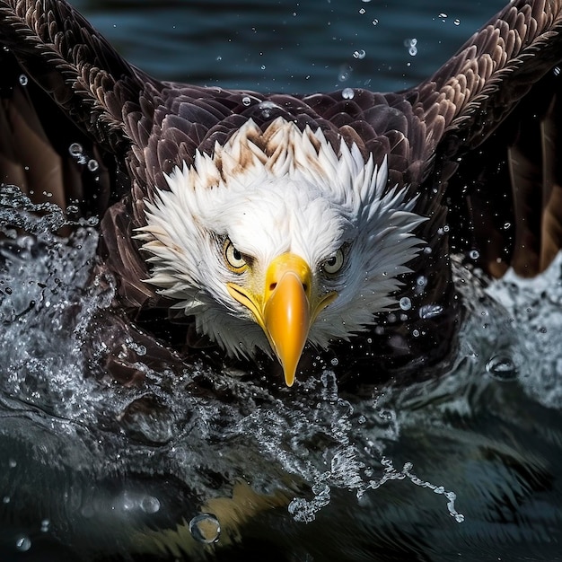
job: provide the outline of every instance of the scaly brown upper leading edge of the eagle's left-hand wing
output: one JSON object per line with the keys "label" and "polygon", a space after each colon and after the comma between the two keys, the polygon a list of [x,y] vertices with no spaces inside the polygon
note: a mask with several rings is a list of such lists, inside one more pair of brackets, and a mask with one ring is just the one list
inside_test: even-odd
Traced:
{"label": "scaly brown upper leading edge of the eagle's left-hand wing", "polygon": [[80,13],[56,0],[3,0],[0,41],[75,123],[119,152],[123,110],[149,76],[128,65]]}

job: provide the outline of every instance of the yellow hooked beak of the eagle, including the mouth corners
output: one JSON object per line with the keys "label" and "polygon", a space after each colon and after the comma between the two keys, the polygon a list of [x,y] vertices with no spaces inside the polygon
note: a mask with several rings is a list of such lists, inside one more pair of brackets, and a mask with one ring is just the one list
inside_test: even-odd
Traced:
{"label": "yellow hooked beak of the eagle, including the mouth corners", "polygon": [[287,386],[292,386],[312,323],[337,294],[315,294],[311,268],[292,253],[271,261],[261,294],[234,283],[227,287],[233,298],[253,313],[283,366]]}

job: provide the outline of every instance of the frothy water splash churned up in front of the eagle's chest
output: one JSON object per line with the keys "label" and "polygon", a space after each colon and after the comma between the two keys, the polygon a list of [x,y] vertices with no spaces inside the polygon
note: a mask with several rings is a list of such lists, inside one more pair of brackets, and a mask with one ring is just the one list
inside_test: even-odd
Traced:
{"label": "frothy water splash churned up in front of the eagle's chest", "polygon": [[[42,216],[36,215],[37,209],[28,214],[29,200],[17,201],[4,205],[6,212],[12,206],[6,215],[9,223],[17,224],[24,216],[36,234],[5,241],[0,252],[0,437],[16,437],[23,445],[40,441],[40,449],[22,451],[37,455],[42,470],[45,465],[73,475],[83,470],[83,486],[115,474],[140,474],[150,482],[166,475],[167,486],[170,481],[180,483],[181,495],[174,501],[182,502],[188,522],[208,501],[232,496],[233,483],[244,481],[259,497],[280,490],[286,501],[276,506],[283,505],[297,524],[329,513],[342,492],[350,492],[356,505],[376,503],[388,488],[384,485],[402,480],[443,496],[443,514],[461,522],[457,493],[461,511],[467,512],[455,472],[438,477],[427,472],[426,452],[418,448],[400,457],[399,464],[392,446],[402,443],[405,433],[418,430],[426,435],[435,427],[452,427],[451,420],[460,418],[464,428],[466,419],[487,407],[487,400],[516,384],[545,403],[559,400],[559,383],[543,379],[539,386],[538,377],[544,373],[535,377],[530,367],[540,354],[539,344],[562,328],[556,315],[546,314],[548,306],[562,303],[559,287],[552,289],[559,285],[559,260],[548,283],[532,289],[509,277],[487,288],[470,278],[469,270],[458,271],[470,306],[450,373],[408,389],[373,389],[367,399],[344,398],[329,368],[288,390],[196,360],[164,356],[155,361],[150,337],[112,308],[116,285],[96,259],[97,233],[77,228],[69,239],[57,238],[50,227],[38,226]],[[48,206],[47,211],[64,219],[60,209]],[[49,224],[55,227],[59,222]],[[427,279],[419,277],[419,289],[426,285]],[[489,294],[499,294],[497,299],[505,302],[498,305]],[[429,307],[423,313],[443,311]],[[527,360],[518,355],[518,331],[524,340],[529,330],[534,339],[524,350],[533,355]],[[540,369],[547,373],[560,361],[554,351],[549,357],[540,355]],[[116,382],[111,362],[135,373],[136,382]],[[415,443],[418,446],[419,440]],[[432,447],[439,443],[437,436]],[[13,451],[4,461],[0,458],[7,482],[4,506],[12,506],[21,492],[17,475],[32,466],[22,454]],[[450,458],[454,457],[443,454],[443,466]],[[155,518],[165,518],[171,510],[166,487],[136,491],[127,481],[118,492],[97,490],[88,496],[82,490],[83,498],[70,495],[61,502],[62,494],[68,493],[66,479],[53,482],[58,490],[55,501],[62,503],[69,519],[72,516],[75,528],[91,529],[96,522],[109,538],[115,536],[112,516],[121,518],[119,529],[137,529],[139,521],[154,527]],[[419,506],[409,496],[400,499],[413,504],[412,509]],[[255,516],[241,512],[240,505],[233,509],[242,520]],[[42,529],[46,515],[37,516],[35,531]],[[467,513],[467,522],[470,516]],[[223,529],[212,544],[220,545],[232,533],[232,523],[216,519]],[[57,513],[48,514],[48,521],[49,529],[60,528]],[[164,524],[173,526],[174,521]],[[34,541],[34,535],[31,538]]]}

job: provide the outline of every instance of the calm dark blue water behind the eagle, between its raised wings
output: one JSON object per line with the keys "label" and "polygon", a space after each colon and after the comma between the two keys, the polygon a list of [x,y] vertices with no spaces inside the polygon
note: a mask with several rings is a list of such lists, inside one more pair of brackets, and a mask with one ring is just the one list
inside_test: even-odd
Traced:
{"label": "calm dark blue water behind the eagle, between its raised wings", "polygon": [[[74,3],[151,74],[263,92],[400,90],[431,74],[505,4],[247,0]],[[416,39],[417,53],[405,42]]]}

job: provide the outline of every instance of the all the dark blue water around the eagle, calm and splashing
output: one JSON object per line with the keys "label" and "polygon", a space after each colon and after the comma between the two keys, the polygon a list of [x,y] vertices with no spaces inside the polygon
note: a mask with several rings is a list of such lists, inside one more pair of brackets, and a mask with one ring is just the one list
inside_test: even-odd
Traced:
{"label": "all the dark blue water around the eagle, calm and splashing", "polygon": [[[495,9],[75,4],[155,75],[297,92],[414,83]],[[562,260],[490,286],[459,269],[449,373],[354,397],[329,368],[285,389],[151,355],[95,225],[52,234],[72,215],[0,194],[4,230],[30,233],[0,254],[3,560],[558,556]]]}

